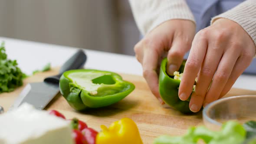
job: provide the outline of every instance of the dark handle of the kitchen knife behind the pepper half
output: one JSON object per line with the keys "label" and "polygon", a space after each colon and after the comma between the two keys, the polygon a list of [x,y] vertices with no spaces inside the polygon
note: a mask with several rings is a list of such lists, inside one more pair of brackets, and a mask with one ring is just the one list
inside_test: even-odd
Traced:
{"label": "dark handle of the kitchen knife behind the pepper half", "polygon": [[46,79],[44,79],[44,82],[50,82],[50,83],[56,83],[59,84],[59,78],[61,75],[72,69],[81,69],[83,68],[85,62],[86,62],[87,56],[85,55],[85,52],[82,49],[79,49],[75,54],[70,57],[60,68],[59,74],[54,76],[49,76]]}

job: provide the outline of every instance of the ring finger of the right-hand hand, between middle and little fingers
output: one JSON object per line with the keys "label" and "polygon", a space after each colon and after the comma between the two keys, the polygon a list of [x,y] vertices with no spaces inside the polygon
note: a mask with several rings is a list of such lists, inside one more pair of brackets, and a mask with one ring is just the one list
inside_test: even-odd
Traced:
{"label": "ring finger of the right-hand hand, between middle and little fingers", "polygon": [[210,85],[210,88],[205,96],[205,100],[203,101],[203,106],[208,105],[210,102],[215,101],[220,97],[220,93],[231,75],[239,54],[240,52],[233,49],[227,49],[227,51],[224,52],[218,69],[213,76],[212,84]]}

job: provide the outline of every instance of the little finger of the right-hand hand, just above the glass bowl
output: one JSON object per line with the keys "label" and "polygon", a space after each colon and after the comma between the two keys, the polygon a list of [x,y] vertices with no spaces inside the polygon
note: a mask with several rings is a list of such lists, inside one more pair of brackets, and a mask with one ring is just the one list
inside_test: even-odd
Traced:
{"label": "little finger of the right-hand hand, just above the glass bowl", "polygon": [[242,75],[243,71],[250,65],[251,62],[252,62],[252,58],[247,56],[246,57],[240,56],[237,59],[236,64],[234,65],[233,71],[231,72],[231,75],[228,81],[226,82],[225,87],[220,93],[219,98],[222,98],[224,95],[226,95],[227,92],[230,91],[230,89],[236,82],[236,79],[238,79],[238,77]]}

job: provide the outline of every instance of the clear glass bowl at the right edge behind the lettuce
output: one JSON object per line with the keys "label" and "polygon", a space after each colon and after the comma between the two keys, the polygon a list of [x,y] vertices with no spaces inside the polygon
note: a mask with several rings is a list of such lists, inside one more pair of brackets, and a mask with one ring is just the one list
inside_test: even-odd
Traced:
{"label": "clear glass bowl at the right edge behind the lettuce", "polygon": [[213,131],[219,131],[226,121],[256,121],[256,95],[240,95],[221,98],[203,109],[203,123]]}

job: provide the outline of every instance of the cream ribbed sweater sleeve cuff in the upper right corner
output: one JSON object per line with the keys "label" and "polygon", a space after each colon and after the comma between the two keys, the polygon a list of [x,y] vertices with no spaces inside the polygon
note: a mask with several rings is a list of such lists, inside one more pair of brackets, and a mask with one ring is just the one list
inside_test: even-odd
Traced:
{"label": "cream ribbed sweater sleeve cuff in the upper right corner", "polygon": [[219,18],[233,20],[242,26],[256,46],[256,0],[246,0],[233,9],[213,17],[211,24]]}

